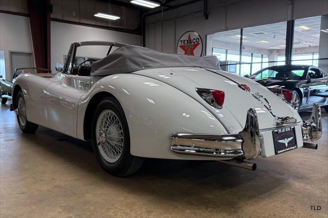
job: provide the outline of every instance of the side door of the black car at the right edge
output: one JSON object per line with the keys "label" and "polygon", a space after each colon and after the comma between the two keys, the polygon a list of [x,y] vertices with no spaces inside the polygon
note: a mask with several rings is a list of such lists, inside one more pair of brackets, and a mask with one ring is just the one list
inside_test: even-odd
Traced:
{"label": "side door of the black car at the right edge", "polygon": [[314,103],[323,105],[328,97],[327,74],[318,68],[310,68],[307,78],[310,84],[309,106]]}

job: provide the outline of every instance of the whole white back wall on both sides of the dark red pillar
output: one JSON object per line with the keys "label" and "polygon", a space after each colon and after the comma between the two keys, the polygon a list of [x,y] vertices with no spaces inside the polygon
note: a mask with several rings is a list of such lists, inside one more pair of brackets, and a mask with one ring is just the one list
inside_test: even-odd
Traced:
{"label": "whole white back wall on both sides of the dark red pillar", "polygon": [[[87,40],[141,46],[140,35],[51,21],[51,70],[55,72],[56,62],[63,63],[72,42]],[[6,78],[9,79],[9,51],[33,53],[29,17],[0,13],[0,50],[5,52]]]}

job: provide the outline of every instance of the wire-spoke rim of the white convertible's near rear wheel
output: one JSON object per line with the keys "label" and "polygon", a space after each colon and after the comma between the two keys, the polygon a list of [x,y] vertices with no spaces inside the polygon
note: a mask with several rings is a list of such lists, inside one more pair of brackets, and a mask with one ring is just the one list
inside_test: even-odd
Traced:
{"label": "wire-spoke rim of the white convertible's near rear wheel", "polygon": [[96,123],[96,142],[101,156],[109,162],[116,162],[123,151],[124,133],[117,115],[111,110],[104,110]]}

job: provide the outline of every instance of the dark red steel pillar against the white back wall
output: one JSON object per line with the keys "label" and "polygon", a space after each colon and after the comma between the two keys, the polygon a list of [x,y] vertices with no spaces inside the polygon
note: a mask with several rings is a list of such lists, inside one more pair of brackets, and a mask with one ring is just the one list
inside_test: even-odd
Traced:
{"label": "dark red steel pillar against the white back wall", "polygon": [[50,62],[50,0],[27,0],[37,68],[51,69]]}

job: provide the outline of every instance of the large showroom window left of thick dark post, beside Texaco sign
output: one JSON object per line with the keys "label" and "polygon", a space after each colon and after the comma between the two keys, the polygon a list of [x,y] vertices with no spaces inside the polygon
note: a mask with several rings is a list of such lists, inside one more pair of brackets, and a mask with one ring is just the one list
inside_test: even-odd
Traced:
{"label": "large showroom window left of thick dark post, beside Texaco sign", "polygon": [[207,54],[218,57],[222,70],[250,75],[284,64],[285,38],[286,22],[215,33],[207,36]]}

